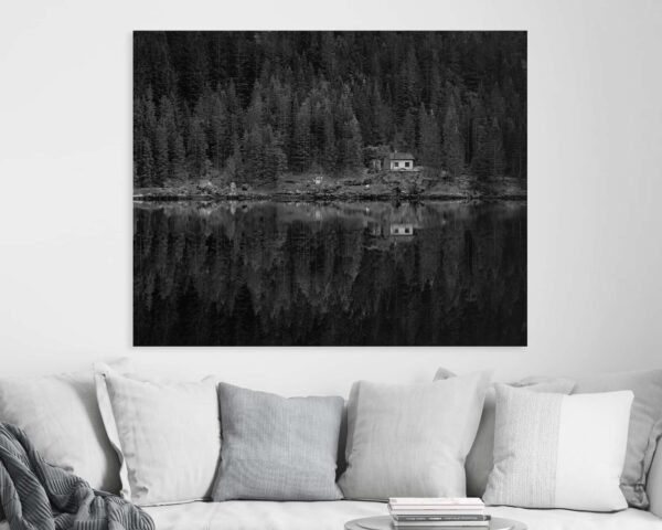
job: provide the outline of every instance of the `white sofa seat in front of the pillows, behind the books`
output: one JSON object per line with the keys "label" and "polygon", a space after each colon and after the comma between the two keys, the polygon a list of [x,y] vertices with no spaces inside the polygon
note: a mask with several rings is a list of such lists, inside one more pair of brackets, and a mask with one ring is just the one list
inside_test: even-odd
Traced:
{"label": "white sofa seat in front of the pillows, behind the books", "polygon": [[[342,530],[352,519],[388,513],[385,504],[349,500],[322,502],[227,501],[146,508],[158,530]],[[528,530],[660,530],[648,511],[618,513],[488,508],[493,517],[515,519]],[[0,529],[3,530],[3,529]]]}

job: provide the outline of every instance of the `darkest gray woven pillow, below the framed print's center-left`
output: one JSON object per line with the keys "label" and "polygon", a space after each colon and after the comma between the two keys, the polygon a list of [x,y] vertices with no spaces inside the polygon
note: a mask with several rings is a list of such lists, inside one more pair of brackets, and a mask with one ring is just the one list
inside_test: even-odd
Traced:
{"label": "darkest gray woven pillow, below the framed print's center-left", "polygon": [[213,499],[337,500],[342,398],[218,384],[223,444]]}

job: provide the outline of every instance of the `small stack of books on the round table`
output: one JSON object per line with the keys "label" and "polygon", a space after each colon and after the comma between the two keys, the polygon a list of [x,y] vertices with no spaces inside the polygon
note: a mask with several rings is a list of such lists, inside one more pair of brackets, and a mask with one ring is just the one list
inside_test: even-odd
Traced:
{"label": "small stack of books on the round table", "polygon": [[394,497],[388,499],[388,511],[393,526],[414,530],[416,527],[431,530],[460,528],[489,528],[490,516],[485,505],[478,498],[414,498]]}

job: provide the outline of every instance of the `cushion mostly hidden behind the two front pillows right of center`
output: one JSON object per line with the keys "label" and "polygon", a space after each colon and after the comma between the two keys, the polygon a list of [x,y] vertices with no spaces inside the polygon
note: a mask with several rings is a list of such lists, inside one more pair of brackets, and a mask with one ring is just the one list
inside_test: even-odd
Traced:
{"label": "cushion mostly hidden behind the two front pillows right of center", "polygon": [[[442,380],[456,377],[451,371],[440,368],[435,375],[435,380]],[[532,392],[553,392],[559,394],[569,394],[575,386],[570,379],[548,379],[530,380],[524,379],[512,386],[531,390]],[[476,439],[471,451],[467,455],[465,470],[467,471],[467,496],[482,497],[488,486],[488,477],[494,466],[494,417],[495,417],[495,392],[494,385],[490,385],[485,394],[485,402],[480,424],[476,433]]]}

